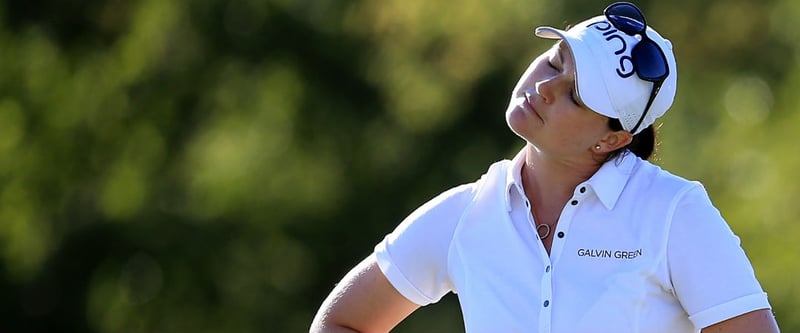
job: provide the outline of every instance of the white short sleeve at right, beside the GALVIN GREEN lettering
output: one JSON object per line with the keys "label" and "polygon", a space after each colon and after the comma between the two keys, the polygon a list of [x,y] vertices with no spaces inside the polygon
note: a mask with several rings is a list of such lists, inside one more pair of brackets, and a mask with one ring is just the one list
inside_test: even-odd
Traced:
{"label": "white short sleeve at right, beside the GALVIN GREEN lettering", "polygon": [[667,253],[675,294],[696,328],[770,308],[739,237],[700,184],[676,206]]}

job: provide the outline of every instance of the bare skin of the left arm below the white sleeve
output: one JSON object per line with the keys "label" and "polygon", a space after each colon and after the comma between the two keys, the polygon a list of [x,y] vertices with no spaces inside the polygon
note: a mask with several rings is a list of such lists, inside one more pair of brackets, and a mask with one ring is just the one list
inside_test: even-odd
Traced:
{"label": "bare skin of the left arm below the white sleeve", "polygon": [[419,308],[401,295],[370,255],[353,268],[320,307],[311,332],[347,328],[356,332],[388,332]]}

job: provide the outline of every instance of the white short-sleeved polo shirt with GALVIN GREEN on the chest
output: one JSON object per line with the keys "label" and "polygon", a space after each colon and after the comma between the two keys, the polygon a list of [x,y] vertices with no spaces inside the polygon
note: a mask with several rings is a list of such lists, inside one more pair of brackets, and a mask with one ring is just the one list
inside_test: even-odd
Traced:
{"label": "white short-sleeved polo shirt with GALVIN GREEN on the chest", "polygon": [[440,194],[375,247],[402,295],[457,293],[470,333],[699,332],[770,308],[700,183],[633,154],[605,163],[575,188],[548,255],[523,161],[524,150]]}

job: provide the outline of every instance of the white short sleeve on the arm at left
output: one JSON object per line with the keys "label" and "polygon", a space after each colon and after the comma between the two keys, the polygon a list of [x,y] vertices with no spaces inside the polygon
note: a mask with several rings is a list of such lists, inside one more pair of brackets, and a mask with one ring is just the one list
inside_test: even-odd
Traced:
{"label": "white short sleeve on the arm at left", "polygon": [[410,301],[435,303],[452,290],[447,255],[456,225],[472,202],[473,189],[474,183],[461,185],[431,199],[375,246],[381,271]]}

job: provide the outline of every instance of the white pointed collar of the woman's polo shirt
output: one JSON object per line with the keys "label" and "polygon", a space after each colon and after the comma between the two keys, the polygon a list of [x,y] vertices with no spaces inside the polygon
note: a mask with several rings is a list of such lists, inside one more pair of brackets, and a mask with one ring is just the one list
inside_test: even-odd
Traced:
{"label": "white pointed collar of the woman's polo shirt", "polygon": [[[518,191],[525,196],[522,189],[522,166],[525,162],[525,148],[520,150],[511,160],[511,167],[506,172],[506,209],[511,211],[511,191]],[[625,151],[611,161],[604,163],[589,180],[579,184],[578,187],[588,186],[606,209],[613,209],[617,204],[622,189],[628,183],[634,168],[641,163],[641,159],[629,151]]]}

